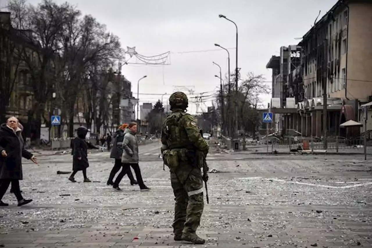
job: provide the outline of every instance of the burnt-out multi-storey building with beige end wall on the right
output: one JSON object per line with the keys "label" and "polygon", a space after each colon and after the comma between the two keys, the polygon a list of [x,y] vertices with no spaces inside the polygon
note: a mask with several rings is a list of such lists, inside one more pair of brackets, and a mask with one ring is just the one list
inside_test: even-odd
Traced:
{"label": "burnt-out multi-storey building with beige end wall on the right", "polygon": [[[267,65],[273,69],[270,107],[287,112],[280,117],[283,128],[297,130],[303,136],[321,137],[325,131],[323,104],[327,104],[328,136],[358,135],[359,130],[340,129],[339,125],[348,120],[362,121],[359,106],[372,101],[371,24],[372,1],[337,1],[296,46],[299,65],[294,69],[291,66],[288,79],[280,81],[283,87],[277,86],[274,77],[274,72],[281,68],[274,57],[270,60]],[[283,93],[280,89],[284,89]],[[287,101],[291,98],[296,111],[284,104],[285,97]],[[372,122],[367,126],[372,128]]]}

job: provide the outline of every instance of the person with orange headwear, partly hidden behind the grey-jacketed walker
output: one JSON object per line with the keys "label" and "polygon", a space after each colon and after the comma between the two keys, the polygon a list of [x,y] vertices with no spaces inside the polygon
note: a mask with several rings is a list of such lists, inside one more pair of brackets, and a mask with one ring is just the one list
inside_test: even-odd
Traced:
{"label": "person with orange headwear, partly hidden behind the grey-jacketed walker", "polygon": [[121,125],[113,136],[113,143],[112,143],[110,158],[115,159],[115,164],[111,169],[110,176],[107,181],[107,185],[114,184],[113,179],[115,177],[115,174],[118,173],[118,171],[120,170],[120,168],[122,168],[120,172],[122,173],[121,177],[124,177],[125,171],[126,171],[126,174],[128,175],[128,178],[131,181],[131,185],[138,184],[138,182],[133,177],[131,168],[129,169],[124,168],[123,163],[121,162],[121,156],[123,155],[122,144],[124,140],[124,130],[126,127],[128,127],[128,124]]}

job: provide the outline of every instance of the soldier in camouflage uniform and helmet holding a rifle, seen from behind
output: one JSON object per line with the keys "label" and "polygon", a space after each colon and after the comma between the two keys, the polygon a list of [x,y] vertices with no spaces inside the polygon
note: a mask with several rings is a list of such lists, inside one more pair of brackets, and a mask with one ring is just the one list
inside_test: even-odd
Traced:
{"label": "soldier in camouflage uniform and helmet holding a rifle, seen from behind", "polygon": [[[169,98],[172,113],[163,123],[161,152],[164,163],[170,169],[170,179],[176,200],[174,206],[173,232],[175,241],[189,241],[204,244],[196,235],[203,213],[203,179],[201,165],[208,153],[195,118],[186,113],[187,96],[175,92]],[[196,162],[198,161],[198,162]]]}

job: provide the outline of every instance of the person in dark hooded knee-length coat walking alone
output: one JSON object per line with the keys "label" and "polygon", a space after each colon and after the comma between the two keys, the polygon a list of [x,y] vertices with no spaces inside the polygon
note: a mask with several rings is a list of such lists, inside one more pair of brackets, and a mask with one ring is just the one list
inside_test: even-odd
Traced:
{"label": "person in dark hooded knee-length coat walking alone", "polygon": [[90,142],[85,140],[88,129],[86,127],[77,128],[77,137],[72,141],[72,153],[73,153],[73,172],[71,173],[68,180],[76,182],[74,179],[78,171],[83,171],[84,182],[91,182],[87,177],[87,168],[89,167],[88,162],[88,148],[99,149]]}

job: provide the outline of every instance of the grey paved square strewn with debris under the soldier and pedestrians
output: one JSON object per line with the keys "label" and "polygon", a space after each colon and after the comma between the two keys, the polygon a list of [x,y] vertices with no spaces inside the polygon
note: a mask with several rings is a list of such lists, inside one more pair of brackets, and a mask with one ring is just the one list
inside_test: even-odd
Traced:
{"label": "grey paved square strewn with debris under the soldier and pedestrians", "polygon": [[[155,146],[140,147],[141,154]],[[123,191],[106,186],[113,161],[90,156],[91,183],[71,183],[71,156],[25,162],[21,182],[29,205],[14,195],[0,209],[4,247],[197,247],[174,242],[174,197],[162,160],[140,163],[151,191],[125,177]],[[144,157],[144,156],[143,156]],[[372,246],[372,166],[362,156],[212,154],[208,157],[210,204],[205,204],[199,247]]]}

